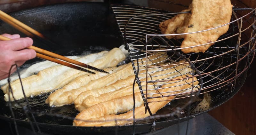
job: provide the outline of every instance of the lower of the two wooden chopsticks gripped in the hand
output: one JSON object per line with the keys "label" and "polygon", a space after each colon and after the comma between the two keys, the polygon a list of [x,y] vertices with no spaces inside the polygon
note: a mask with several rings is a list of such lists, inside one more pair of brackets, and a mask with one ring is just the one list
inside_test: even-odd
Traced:
{"label": "lower of the two wooden chopsticks gripped in the hand", "polygon": [[[8,37],[4,37],[4,36],[1,36],[1,35],[0,35],[0,40],[11,40],[11,39],[8,38]],[[28,47],[27,49],[29,49],[29,47]],[[77,70],[80,70],[80,71],[85,71],[85,72],[88,72],[88,73],[91,73],[91,74],[95,74],[94,72],[89,71],[89,70],[87,70],[87,69],[78,67],[78,66],[73,65],[73,64],[70,64],[70,63],[68,63],[68,62],[64,62],[64,61],[61,61],[61,60],[58,60],[58,59],[54,59],[54,58],[52,58],[52,57],[49,57],[49,56],[46,56],[46,55],[43,55],[43,54],[40,54],[40,53],[37,53],[37,52],[36,52],[36,57],[41,58],[41,59],[44,59],[44,60],[49,60],[49,61],[58,63],[58,64],[60,64],[60,65],[64,65],[64,66],[67,66],[67,67],[70,67],[70,68],[74,68],[74,69],[77,69]],[[64,56],[63,56],[63,57],[64,57]]]}

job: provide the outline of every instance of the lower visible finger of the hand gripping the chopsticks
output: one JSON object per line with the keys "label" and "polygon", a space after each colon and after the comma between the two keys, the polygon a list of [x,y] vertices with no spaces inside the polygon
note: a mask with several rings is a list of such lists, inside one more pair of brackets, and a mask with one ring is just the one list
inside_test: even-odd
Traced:
{"label": "lower visible finger of the hand gripping the chopsticks", "polygon": [[15,51],[13,54],[14,61],[27,61],[36,57],[36,51],[33,49],[24,49]]}

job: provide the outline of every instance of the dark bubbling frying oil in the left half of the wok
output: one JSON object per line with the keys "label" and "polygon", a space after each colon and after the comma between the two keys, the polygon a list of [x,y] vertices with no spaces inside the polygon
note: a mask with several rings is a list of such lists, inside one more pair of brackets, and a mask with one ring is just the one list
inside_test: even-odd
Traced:
{"label": "dark bubbling frying oil in the left half of the wok", "polygon": [[[82,51],[81,51],[82,50]],[[89,46],[83,49],[75,49],[75,50],[61,50],[60,52],[68,52],[66,56],[73,56],[73,55],[88,55],[91,53],[97,53],[109,49],[106,47],[101,46]],[[62,54],[63,55],[63,54]],[[34,60],[28,64],[24,64],[19,68],[19,71],[25,68],[28,68],[32,64],[36,62],[40,62],[42,60]],[[127,64],[130,62],[130,59],[127,58],[124,61],[120,62],[117,66]],[[14,75],[17,73],[14,73]],[[28,97],[28,103],[31,106],[31,110],[29,111],[27,102],[25,99],[20,99],[18,101],[10,102],[12,110],[14,112],[14,116],[16,119],[28,120],[28,116],[24,113],[24,110],[28,112],[29,117],[31,118],[31,112],[34,114],[36,121],[39,123],[50,123],[50,124],[60,124],[60,125],[72,125],[73,118],[79,113],[76,109],[74,104],[65,105],[62,107],[50,107],[48,104],[45,103],[45,100],[48,96],[52,93],[42,93],[41,95],[37,96],[30,96]],[[24,108],[25,107],[25,108]],[[0,91],[0,115],[4,115],[6,117],[13,117],[11,110],[9,108],[9,102],[4,101],[4,93]],[[67,118],[68,117],[68,118]]]}

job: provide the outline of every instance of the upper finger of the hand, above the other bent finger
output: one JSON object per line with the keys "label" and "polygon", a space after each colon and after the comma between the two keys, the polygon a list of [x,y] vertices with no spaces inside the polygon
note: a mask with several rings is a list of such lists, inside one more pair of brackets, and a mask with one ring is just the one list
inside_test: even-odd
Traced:
{"label": "upper finger of the hand, above the other bent finger", "polygon": [[13,51],[18,51],[18,50],[22,50],[26,47],[29,47],[33,44],[33,40],[29,37],[25,37],[25,38],[15,38],[9,41],[1,41],[3,44],[8,44],[10,45],[10,48]]}

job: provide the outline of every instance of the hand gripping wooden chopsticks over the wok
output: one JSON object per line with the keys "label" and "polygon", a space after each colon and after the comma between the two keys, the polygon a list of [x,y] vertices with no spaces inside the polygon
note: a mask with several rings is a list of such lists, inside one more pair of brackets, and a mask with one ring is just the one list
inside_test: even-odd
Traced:
{"label": "hand gripping wooden chopsticks over the wok", "polygon": [[[36,57],[33,49],[25,49],[33,44],[33,40],[29,37],[20,38],[20,35],[3,34],[2,36],[11,38],[12,40],[0,41],[0,80],[8,77],[9,70],[13,64],[21,66],[27,60]],[[11,74],[16,71],[14,66]]]}

